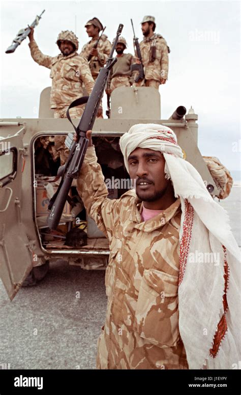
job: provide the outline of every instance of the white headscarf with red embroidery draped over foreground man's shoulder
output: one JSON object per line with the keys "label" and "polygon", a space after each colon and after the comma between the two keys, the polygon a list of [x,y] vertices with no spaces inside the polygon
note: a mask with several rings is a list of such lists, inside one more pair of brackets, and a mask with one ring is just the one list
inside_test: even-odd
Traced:
{"label": "white headscarf with red embroidery draped over foreground man's shoulder", "polygon": [[[137,147],[162,152],[166,177],[180,197],[179,331],[189,368],[234,368],[240,360],[240,253],[227,212],[183,159],[170,128],[134,125],[119,144],[127,170],[128,157]],[[204,256],[213,263],[204,263]]]}

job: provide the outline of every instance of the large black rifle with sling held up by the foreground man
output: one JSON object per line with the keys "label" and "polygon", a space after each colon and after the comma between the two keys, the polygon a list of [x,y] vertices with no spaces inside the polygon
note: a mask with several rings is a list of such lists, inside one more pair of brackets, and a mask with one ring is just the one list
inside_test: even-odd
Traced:
{"label": "large black rifle with sling held up by the foreground man", "polygon": [[73,125],[71,121],[77,134],[77,140],[72,143],[70,154],[66,164],[59,168],[62,174],[59,174],[58,172],[58,175],[62,175],[62,179],[57,191],[53,195],[48,206],[48,209],[51,210],[47,218],[47,225],[50,229],[56,229],[56,227],[58,226],[63,209],[65,207],[65,203],[69,199],[69,190],[72,181],[74,178],[78,177],[79,169],[82,166],[84,155],[88,146],[86,132],[87,130],[91,130],[93,128],[110,69],[117,61],[116,58],[113,58],[113,53],[122,29],[123,24],[119,24],[116,37],[111,48],[110,56],[106,62],[106,66],[100,69],[91,95],[89,97],[85,96],[75,100],[73,103],[71,103],[67,110],[67,117],[71,121],[71,118],[69,116],[69,109],[87,102],[77,128]]}

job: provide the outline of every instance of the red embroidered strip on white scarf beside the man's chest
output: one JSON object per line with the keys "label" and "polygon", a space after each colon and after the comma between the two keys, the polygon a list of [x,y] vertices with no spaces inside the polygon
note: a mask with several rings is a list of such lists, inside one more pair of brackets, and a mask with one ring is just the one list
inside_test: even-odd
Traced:
{"label": "red embroidered strip on white scarf beside the man's chest", "polygon": [[180,285],[180,283],[183,281],[184,271],[187,264],[189,245],[192,236],[193,216],[193,206],[188,202],[187,199],[185,199],[185,219],[183,223],[183,236],[182,240],[180,241],[180,267],[178,285]]}

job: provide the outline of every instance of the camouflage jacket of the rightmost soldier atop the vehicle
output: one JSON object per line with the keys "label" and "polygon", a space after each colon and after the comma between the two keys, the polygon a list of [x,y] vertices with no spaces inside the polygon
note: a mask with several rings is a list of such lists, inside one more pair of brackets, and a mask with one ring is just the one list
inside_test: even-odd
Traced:
{"label": "camouflage jacket of the rightmost soldier atop the vehicle", "polygon": [[[156,46],[156,59],[150,62],[150,47]],[[161,78],[167,80],[168,76],[168,46],[166,40],[160,34],[154,34],[152,37],[144,37],[140,42],[140,50],[144,73],[146,80],[161,81]]]}

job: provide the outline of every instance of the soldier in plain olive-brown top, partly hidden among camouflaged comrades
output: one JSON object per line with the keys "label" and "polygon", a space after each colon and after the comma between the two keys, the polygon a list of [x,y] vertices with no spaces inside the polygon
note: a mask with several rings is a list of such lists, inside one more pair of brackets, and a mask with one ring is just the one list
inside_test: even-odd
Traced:
{"label": "soldier in plain olive-brown top, partly hidden among camouflaged comrades", "polygon": [[[116,44],[117,62],[110,70],[107,81],[106,93],[110,94],[115,88],[120,86],[131,86],[133,84],[133,72],[131,72],[131,64],[135,63],[132,54],[124,54],[127,47],[126,39],[122,36],[118,38]],[[134,71],[135,73],[135,71]]]}

